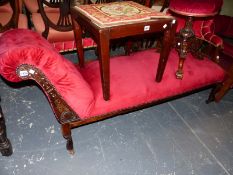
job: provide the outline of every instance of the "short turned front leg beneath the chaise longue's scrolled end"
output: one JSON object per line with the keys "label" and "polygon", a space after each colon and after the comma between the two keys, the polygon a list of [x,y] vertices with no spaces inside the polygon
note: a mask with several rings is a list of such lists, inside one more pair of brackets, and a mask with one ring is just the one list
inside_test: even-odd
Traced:
{"label": "short turned front leg beneath the chaise longue's scrolled end", "polygon": [[71,136],[71,127],[69,123],[62,124],[62,135],[67,140],[66,142],[66,149],[70,154],[74,154],[74,146],[73,146],[73,140]]}

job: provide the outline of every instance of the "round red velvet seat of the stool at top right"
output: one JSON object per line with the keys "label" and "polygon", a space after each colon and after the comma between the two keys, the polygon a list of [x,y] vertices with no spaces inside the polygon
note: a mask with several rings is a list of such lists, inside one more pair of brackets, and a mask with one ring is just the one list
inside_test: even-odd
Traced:
{"label": "round red velvet seat of the stool at top right", "polygon": [[170,0],[169,9],[185,16],[213,16],[219,12],[223,0]]}

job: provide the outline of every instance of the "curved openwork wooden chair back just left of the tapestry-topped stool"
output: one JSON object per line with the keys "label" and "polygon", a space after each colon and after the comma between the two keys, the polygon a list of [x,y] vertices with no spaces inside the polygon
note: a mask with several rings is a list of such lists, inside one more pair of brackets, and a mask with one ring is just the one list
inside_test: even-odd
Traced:
{"label": "curved openwork wooden chair back just left of the tapestry-topped stool", "polygon": [[[42,32],[43,37],[47,38],[49,28],[53,28],[60,32],[67,32],[72,30],[72,22],[70,17],[70,0],[37,0],[39,12],[45,24],[45,30]],[[59,18],[54,23],[45,12],[44,7],[59,8]]]}

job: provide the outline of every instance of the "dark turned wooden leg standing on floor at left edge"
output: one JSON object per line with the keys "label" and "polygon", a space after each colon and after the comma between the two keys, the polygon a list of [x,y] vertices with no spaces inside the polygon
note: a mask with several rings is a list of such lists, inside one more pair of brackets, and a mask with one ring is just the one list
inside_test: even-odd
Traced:
{"label": "dark turned wooden leg standing on floor at left edge", "polygon": [[12,146],[6,135],[5,119],[0,106],[0,152],[3,156],[10,156],[12,154]]}

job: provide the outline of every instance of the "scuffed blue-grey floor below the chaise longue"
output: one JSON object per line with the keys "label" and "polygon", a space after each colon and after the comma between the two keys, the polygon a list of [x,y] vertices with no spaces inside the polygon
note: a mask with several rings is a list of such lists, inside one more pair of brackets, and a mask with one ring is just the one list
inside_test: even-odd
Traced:
{"label": "scuffed blue-grey floor below the chaise longue", "polygon": [[0,79],[14,150],[0,175],[232,175],[233,90],[218,104],[209,92],[74,129],[70,156],[39,88]]}

